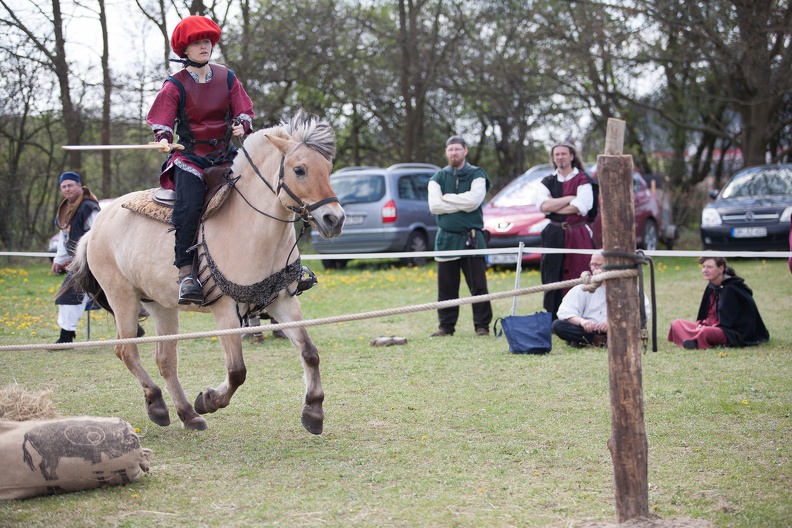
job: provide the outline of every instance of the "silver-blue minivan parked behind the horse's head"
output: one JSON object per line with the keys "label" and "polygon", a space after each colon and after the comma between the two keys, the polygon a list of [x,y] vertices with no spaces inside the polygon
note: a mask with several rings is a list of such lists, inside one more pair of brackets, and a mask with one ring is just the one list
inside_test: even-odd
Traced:
{"label": "silver-blue minivan parked behind the horse's head", "polygon": [[[440,167],[398,163],[388,168],[346,167],[330,176],[330,185],[346,212],[341,236],[325,239],[311,232],[317,253],[388,253],[434,248],[437,223],[429,212],[427,186]],[[402,259],[422,266],[426,257]],[[325,268],[343,268],[346,259],[323,259]]]}

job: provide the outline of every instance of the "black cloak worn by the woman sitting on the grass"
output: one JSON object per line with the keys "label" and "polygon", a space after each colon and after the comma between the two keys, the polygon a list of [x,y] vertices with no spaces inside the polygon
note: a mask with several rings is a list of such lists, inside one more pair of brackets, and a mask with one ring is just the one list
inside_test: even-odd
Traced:
{"label": "black cloak worn by the woman sitting on the grass", "polygon": [[713,292],[718,299],[717,326],[726,334],[729,346],[758,345],[770,339],[770,333],[754,302],[753,291],[740,277],[724,275],[720,286],[707,286],[697,320],[707,318]]}

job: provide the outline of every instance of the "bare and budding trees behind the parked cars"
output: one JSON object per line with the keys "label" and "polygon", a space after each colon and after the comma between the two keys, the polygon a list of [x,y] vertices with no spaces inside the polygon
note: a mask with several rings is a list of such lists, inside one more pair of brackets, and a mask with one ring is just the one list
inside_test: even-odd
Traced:
{"label": "bare and budding trees behind the parked cars", "polygon": [[[108,10],[139,26],[129,71],[110,69],[112,41],[125,37],[107,28]],[[188,14],[223,28],[215,60],[251,95],[255,127],[318,113],[336,129],[338,166],[443,164],[445,138],[462,134],[500,187],[557,140],[594,157],[611,117],[627,122],[636,163],[679,191],[736,168],[720,152],[745,164],[790,157],[789,0],[0,0],[4,249],[43,246],[62,170],[105,195],[154,184],[156,154],[59,147],[149,140],[169,35]],[[71,29],[86,17],[109,37],[100,74]]]}

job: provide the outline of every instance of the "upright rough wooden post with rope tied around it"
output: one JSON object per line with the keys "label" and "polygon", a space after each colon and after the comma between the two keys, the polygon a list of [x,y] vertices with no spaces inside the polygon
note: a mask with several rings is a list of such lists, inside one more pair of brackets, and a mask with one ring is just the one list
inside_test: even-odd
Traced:
{"label": "upright rough wooden post with rope tied around it", "polygon": [[[605,155],[597,158],[602,196],[604,251],[635,252],[635,205],[632,156],[623,156],[624,121],[608,120]],[[626,258],[607,257],[608,265],[628,265]],[[644,426],[641,380],[641,335],[637,281],[607,282],[608,370],[610,375],[611,437],[616,520],[625,522],[649,514],[648,447]]]}

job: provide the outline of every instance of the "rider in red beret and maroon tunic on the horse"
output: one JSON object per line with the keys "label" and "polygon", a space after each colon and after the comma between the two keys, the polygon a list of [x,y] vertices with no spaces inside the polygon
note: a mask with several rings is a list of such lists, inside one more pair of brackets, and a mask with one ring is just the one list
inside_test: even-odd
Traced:
{"label": "rider in red beret and maroon tunic on the horse", "polygon": [[193,253],[206,195],[204,169],[233,160],[231,136],[242,138],[253,130],[253,102],[234,72],[209,64],[220,33],[220,27],[203,16],[189,16],[176,25],[170,44],[180,58],[171,60],[181,62],[183,69],[165,80],[146,118],[156,141],[172,144],[175,129],[184,146],[170,152],[160,176],[163,188],[176,191],[179,304],[204,302]]}

